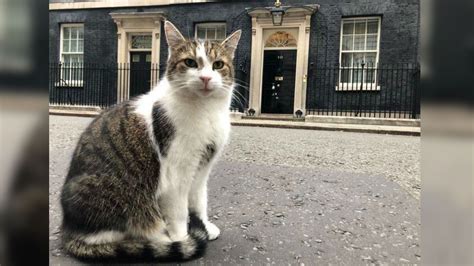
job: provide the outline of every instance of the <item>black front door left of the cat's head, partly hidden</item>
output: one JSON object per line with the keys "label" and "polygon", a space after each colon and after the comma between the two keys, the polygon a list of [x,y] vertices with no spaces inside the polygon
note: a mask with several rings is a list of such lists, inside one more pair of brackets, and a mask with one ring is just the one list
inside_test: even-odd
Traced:
{"label": "black front door left of the cat's head, partly hidden", "polygon": [[130,98],[150,91],[151,52],[130,52]]}

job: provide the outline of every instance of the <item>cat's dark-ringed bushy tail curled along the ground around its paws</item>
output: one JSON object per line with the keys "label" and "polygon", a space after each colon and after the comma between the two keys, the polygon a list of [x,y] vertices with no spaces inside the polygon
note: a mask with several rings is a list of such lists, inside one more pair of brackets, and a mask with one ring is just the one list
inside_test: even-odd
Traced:
{"label": "cat's dark-ringed bushy tail curled along the ground around its paws", "polygon": [[206,251],[208,233],[204,223],[190,215],[188,236],[179,242],[154,242],[128,239],[120,242],[88,244],[81,238],[66,237],[65,249],[83,260],[144,259],[182,261],[202,257]]}

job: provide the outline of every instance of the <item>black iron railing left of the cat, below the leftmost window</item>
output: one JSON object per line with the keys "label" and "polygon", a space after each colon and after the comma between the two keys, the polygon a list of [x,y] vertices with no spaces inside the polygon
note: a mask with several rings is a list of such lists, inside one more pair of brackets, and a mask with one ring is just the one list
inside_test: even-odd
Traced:
{"label": "black iron railing left of the cat, below the leftmost window", "polygon": [[159,64],[50,64],[49,103],[107,108],[149,91],[164,69]]}

